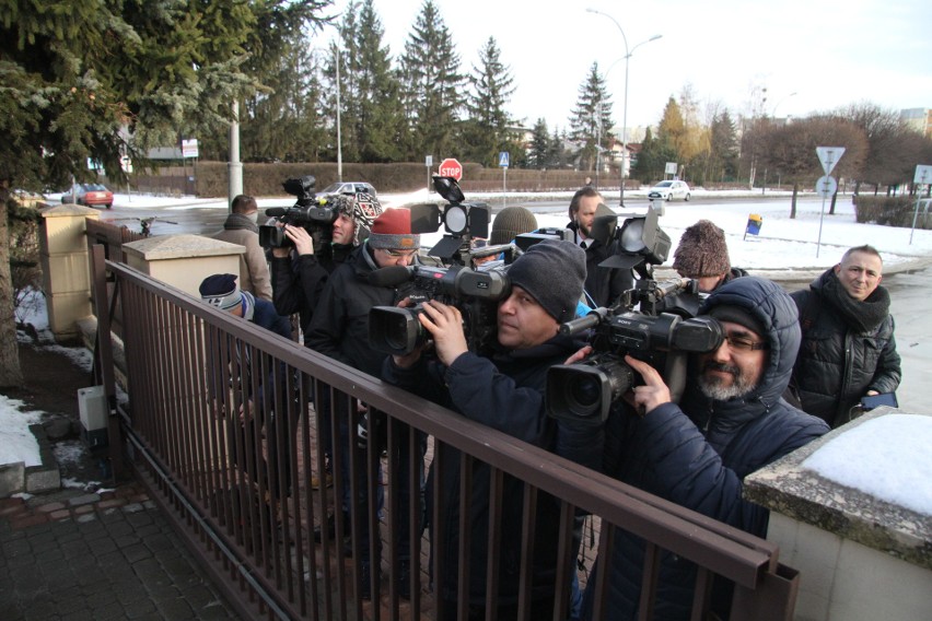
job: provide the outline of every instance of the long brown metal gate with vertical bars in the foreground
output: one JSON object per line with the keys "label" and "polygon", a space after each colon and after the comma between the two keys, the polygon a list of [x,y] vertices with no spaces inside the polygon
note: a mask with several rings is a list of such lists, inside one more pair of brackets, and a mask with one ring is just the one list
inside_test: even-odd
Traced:
{"label": "long brown metal gate with vertical bars in the foreground", "polygon": [[[485,501],[492,516],[487,542],[491,562],[475,566],[468,554],[459,554],[461,618],[466,618],[470,575],[485,581],[488,594],[494,594],[499,584],[502,534],[494,517],[502,506],[506,478],[524,483],[519,619],[531,614],[533,585],[527,576],[535,558],[533,507],[539,494],[551,494],[561,506],[562,538],[554,572],[556,584],[567,588],[555,594],[555,620],[564,618],[559,611],[567,609],[571,572],[575,571],[576,550],[570,544],[570,532],[578,511],[592,514],[601,525],[598,551],[603,559],[619,528],[648,542],[642,619],[651,618],[655,562],[662,551],[699,566],[692,619],[707,618],[713,577],[736,585],[733,619],[789,619],[792,614],[799,578],[779,564],[776,546],[767,541],[387,386],[127,266],[105,263],[100,249],[93,269],[101,329],[120,326],[126,349],[128,402],[117,405],[113,372],[107,371],[112,365],[107,362],[112,360],[109,339],[98,339],[104,385],[114,405],[112,419],[119,421],[128,464],[150,484],[153,496],[200,551],[205,565],[244,616],[328,620],[442,617],[430,576],[440,575],[452,560],[440,550],[429,554],[428,537],[411,537],[406,550],[398,537],[404,528],[420,532],[422,526],[419,494],[410,494],[401,506],[401,494],[396,492],[405,484],[412,490],[420,485],[417,458],[410,452],[404,458],[407,462],[399,457],[405,455],[405,444],[417,442],[419,433],[430,437],[429,466],[451,466],[455,449],[463,472],[478,464],[487,465],[491,472],[490,495]],[[105,270],[114,281],[110,295],[118,296],[119,304],[102,295],[107,290]],[[121,315],[119,321],[110,321],[110,309]],[[375,436],[374,421],[385,421],[384,446],[369,442],[359,448],[356,442],[340,442],[340,422],[356,430],[362,420],[362,403],[368,406],[370,437]],[[349,420],[341,421],[335,414],[339,411],[349,412]],[[313,477],[324,472],[325,438],[331,445],[335,483],[314,489]],[[119,459],[119,449],[114,458]],[[339,509],[343,461],[350,470],[350,497],[366,499],[369,509],[352,520],[348,531],[336,520],[339,544],[316,543],[314,527]],[[362,472],[370,474],[371,483],[365,487],[357,483],[365,479],[359,476]],[[469,477],[464,476],[462,490],[469,490]],[[385,494],[383,515],[375,508],[380,489]],[[469,496],[461,494],[459,515],[469,514]],[[403,514],[409,517],[403,520]],[[451,523],[436,509],[428,518],[433,528],[458,529],[461,551],[468,550],[468,524]],[[369,541],[363,539],[366,531]],[[372,572],[370,588],[381,595],[370,602],[360,597],[363,571],[359,559],[364,543],[376,549],[380,541],[384,581]],[[405,585],[398,582],[399,560],[405,555],[413,565],[407,584],[409,601],[400,597]],[[603,565],[599,575],[609,571]],[[590,586],[604,595],[605,584],[597,582]],[[487,606],[486,611],[487,618],[496,618],[493,607]],[[611,611],[597,613],[611,618]]]}

